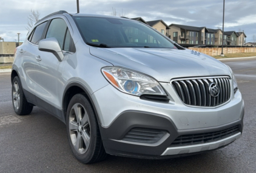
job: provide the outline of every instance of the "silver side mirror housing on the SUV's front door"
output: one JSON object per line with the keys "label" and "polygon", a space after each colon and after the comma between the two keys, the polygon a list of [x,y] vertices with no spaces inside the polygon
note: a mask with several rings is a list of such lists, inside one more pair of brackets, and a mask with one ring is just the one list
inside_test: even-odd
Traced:
{"label": "silver side mirror housing on the SUV's front door", "polygon": [[42,39],[39,41],[38,49],[53,53],[59,61],[62,61],[64,58],[64,54],[56,38]]}

